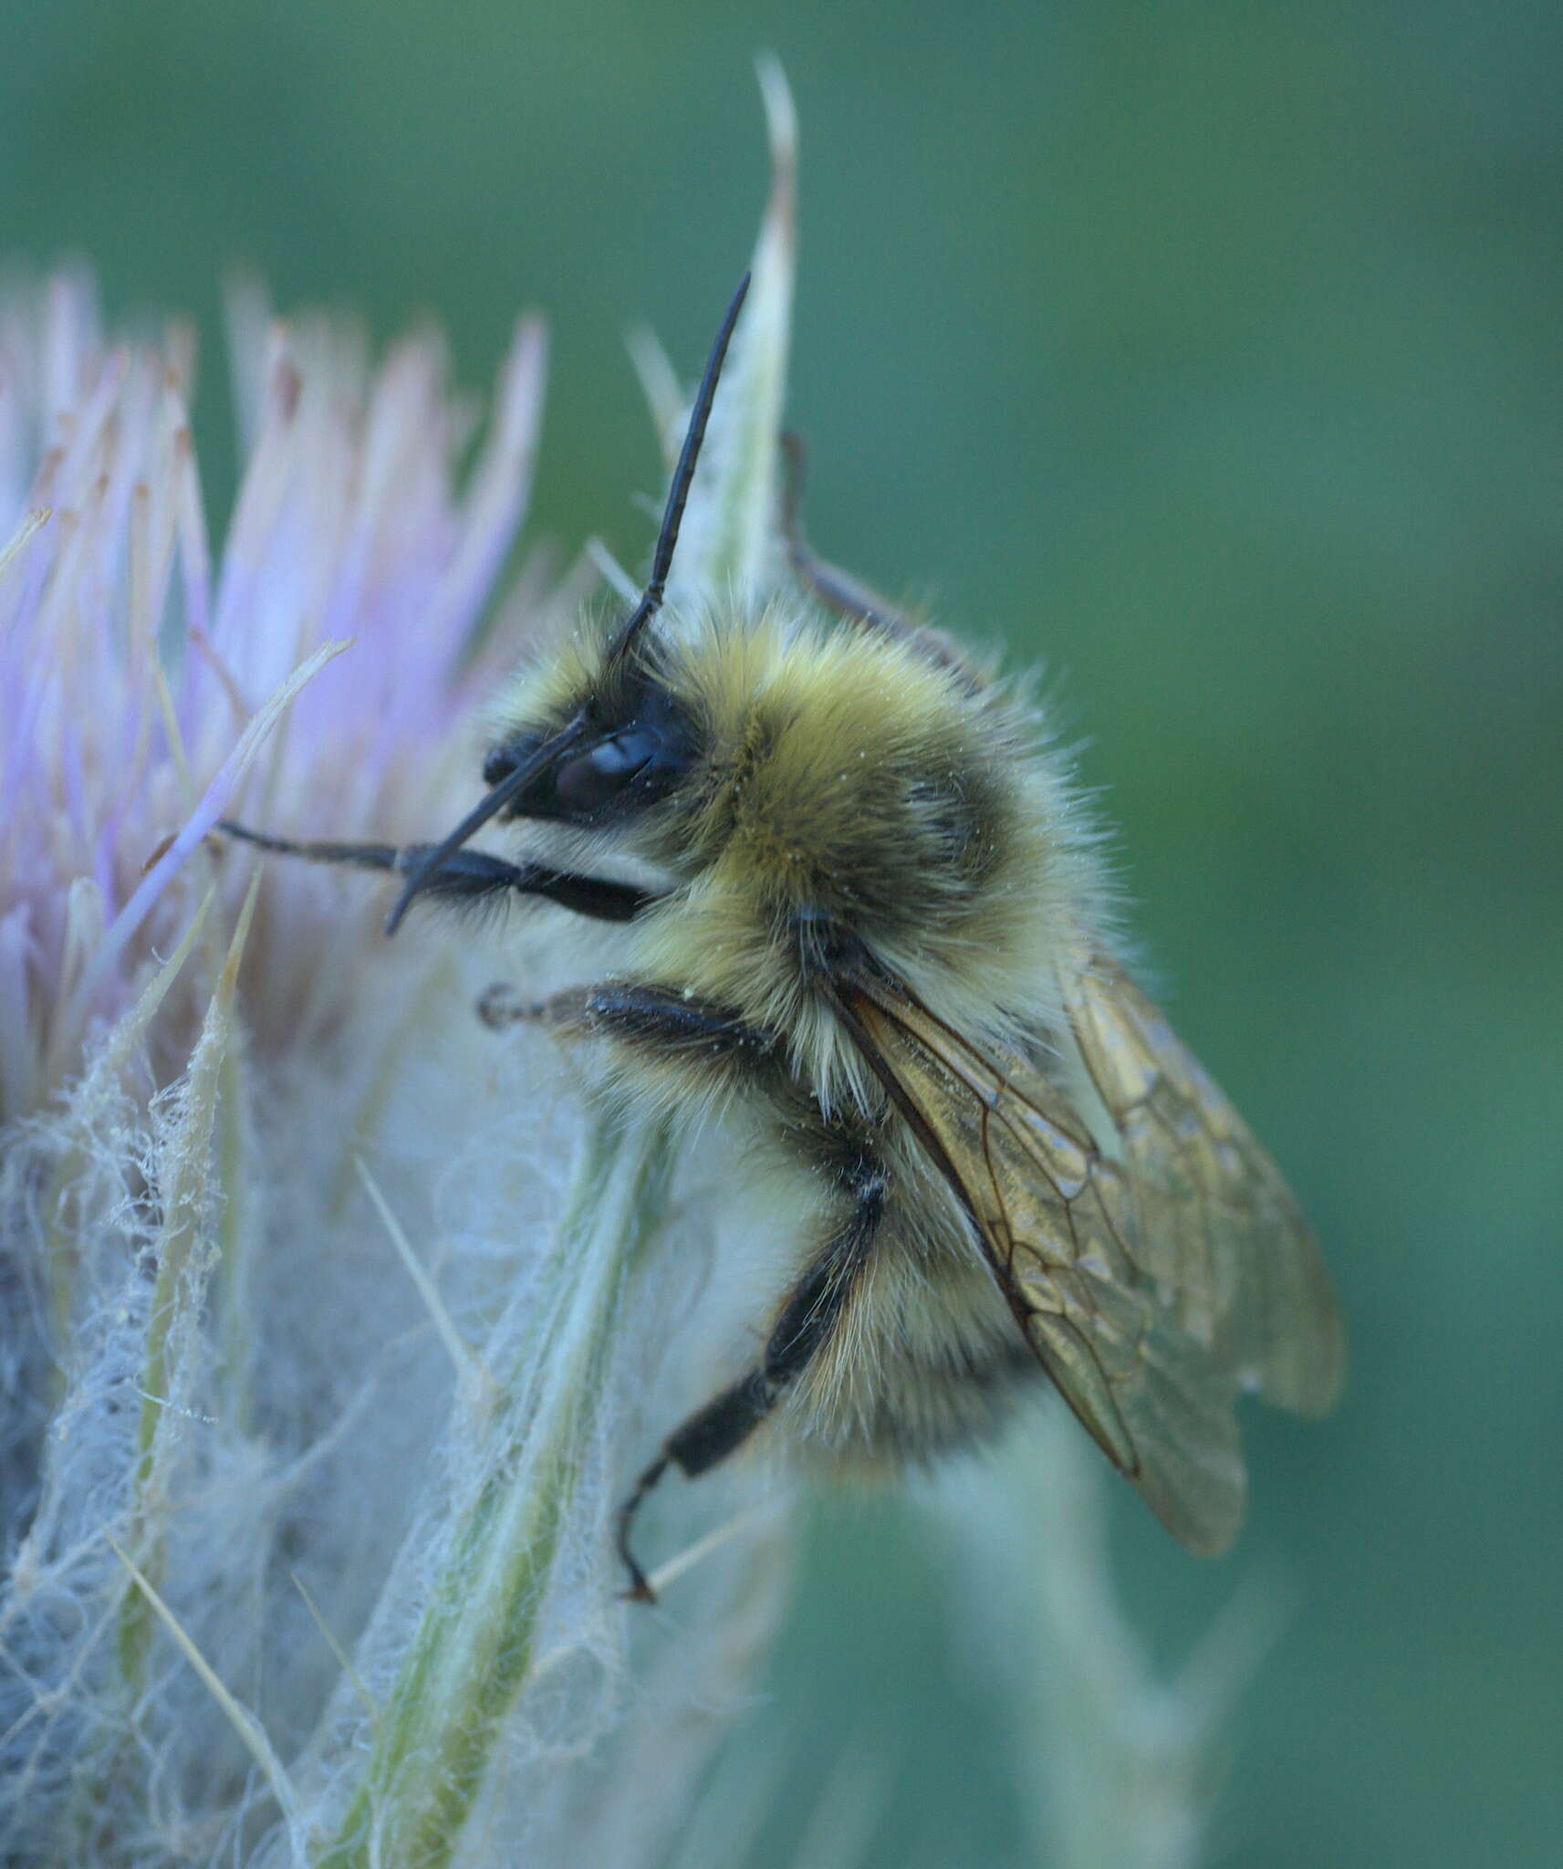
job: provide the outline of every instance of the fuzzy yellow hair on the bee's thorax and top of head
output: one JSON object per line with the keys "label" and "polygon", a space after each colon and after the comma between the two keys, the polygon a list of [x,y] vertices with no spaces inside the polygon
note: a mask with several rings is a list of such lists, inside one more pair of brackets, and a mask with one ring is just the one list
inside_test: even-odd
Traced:
{"label": "fuzzy yellow hair on the bee's thorax and top of head", "polygon": [[[505,731],[553,729],[587,695],[611,718],[606,643],[583,624],[555,645],[510,693]],[[626,660],[606,684],[651,675],[695,748],[677,792],[619,835],[673,882],[626,931],[626,976],[783,1034],[826,1110],[871,1110],[879,1091],[817,991],[815,918],[974,1039],[1023,1047],[1060,1024],[1056,968],[1084,931],[1103,940],[1109,893],[1021,697],[905,637],[782,604],[662,624]]]}

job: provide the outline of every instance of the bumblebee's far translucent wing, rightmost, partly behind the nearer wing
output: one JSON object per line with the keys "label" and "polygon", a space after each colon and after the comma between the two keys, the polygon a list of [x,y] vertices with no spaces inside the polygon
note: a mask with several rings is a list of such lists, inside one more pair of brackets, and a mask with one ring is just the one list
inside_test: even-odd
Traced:
{"label": "bumblebee's far translucent wing, rightmost, partly behind the nearer wing", "polygon": [[1341,1392],[1346,1340],[1324,1258],[1275,1163],[1112,963],[1068,981],[1066,1006],[1122,1138],[1140,1265],[1245,1389],[1324,1415]]}

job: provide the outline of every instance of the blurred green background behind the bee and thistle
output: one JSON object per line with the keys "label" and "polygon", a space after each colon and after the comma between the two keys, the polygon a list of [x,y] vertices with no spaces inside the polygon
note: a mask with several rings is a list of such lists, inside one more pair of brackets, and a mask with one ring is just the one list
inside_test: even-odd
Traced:
{"label": "blurred green background behind the bee and thistle", "polygon": [[[759,47],[802,120],[813,536],[1058,671],[1176,1017],[1344,1290],[1346,1404],[1251,1417],[1238,1555],[1122,1512],[1167,1656],[1247,1572],[1298,1594],[1223,1860],[1556,1863],[1563,11],[56,0],[0,39],[0,250],[202,318],[219,501],[236,256],[381,335],[437,310],[473,387],[538,305],[531,535],[638,561],[621,335],[703,355]],[[813,1512],[763,1862],[864,1746],[875,1863],[1026,1860],[954,1568],[911,1505]]]}

